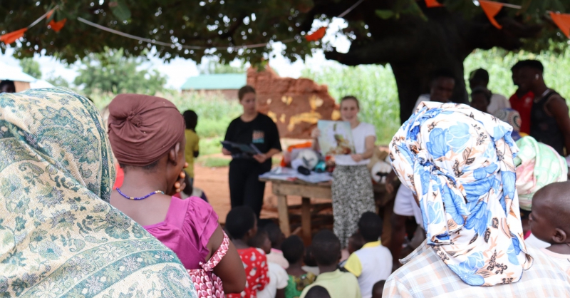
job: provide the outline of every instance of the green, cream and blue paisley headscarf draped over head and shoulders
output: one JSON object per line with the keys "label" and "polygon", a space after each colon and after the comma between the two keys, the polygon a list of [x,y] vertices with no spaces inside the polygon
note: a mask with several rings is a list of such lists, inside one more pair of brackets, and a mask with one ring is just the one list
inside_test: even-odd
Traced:
{"label": "green, cream and blue paisley headscarf draped over head and shoulders", "polygon": [[87,98],[0,94],[0,297],[196,297],[176,255],[108,204],[114,178]]}

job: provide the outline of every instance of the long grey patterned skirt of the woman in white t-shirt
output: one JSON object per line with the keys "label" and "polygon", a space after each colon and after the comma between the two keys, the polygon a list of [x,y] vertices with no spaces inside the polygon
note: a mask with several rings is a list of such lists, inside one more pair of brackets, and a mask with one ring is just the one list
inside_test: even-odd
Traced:
{"label": "long grey patterned skirt of the woman in white t-shirt", "polygon": [[376,212],[372,178],[366,165],[337,165],[333,171],[333,232],[348,245],[364,212]]}

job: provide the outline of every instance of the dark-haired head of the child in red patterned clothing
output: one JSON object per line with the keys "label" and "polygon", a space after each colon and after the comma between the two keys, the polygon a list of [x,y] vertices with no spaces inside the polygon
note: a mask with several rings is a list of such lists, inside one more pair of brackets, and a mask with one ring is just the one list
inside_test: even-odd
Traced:
{"label": "dark-haired head of the child in red patterned clothing", "polygon": [[257,218],[248,206],[233,207],[226,217],[226,229],[232,239],[247,241],[257,234]]}

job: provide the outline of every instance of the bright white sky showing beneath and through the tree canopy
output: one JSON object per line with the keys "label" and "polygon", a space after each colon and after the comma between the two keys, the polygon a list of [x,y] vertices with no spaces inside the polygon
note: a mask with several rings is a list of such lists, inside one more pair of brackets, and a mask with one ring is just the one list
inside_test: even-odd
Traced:
{"label": "bright white sky showing beneath and through the tree canopy", "polygon": [[[323,38],[323,42],[329,42],[332,46],[336,47],[338,52],[346,53],[351,42],[343,35],[337,36],[337,33],[341,29],[346,28],[346,21],[343,19],[333,18],[330,24],[323,24],[321,21],[315,20],[313,23],[313,29],[318,29],[319,27],[326,25],[328,25],[328,29],[325,37]],[[322,50],[314,51],[312,57],[307,56],[305,61],[297,60],[294,63],[291,63],[288,58],[281,55],[281,49],[283,46],[283,43],[274,43],[273,52],[270,57],[275,55],[275,58],[269,59],[269,66],[277,71],[279,76],[299,78],[299,76],[301,76],[301,71],[305,67],[318,70],[324,66],[338,66],[338,63],[335,61],[326,60]],[[19,60],[12,56],[13,53],[14,49],[8,48],[4,55],[0,53],[0,61],[10,66],[19,66]],[[187,78],[198,75],[198,67],[195,61],[175,58],[172,59],[170,63],[165,63],[160,58],[152,56],[152,51],[148,58],[149,60],[145,61],[142,67],[156,69],[167,76],[167,88],[180,89],[180,86],[182,86]],[[68,66],[65,63],[60,63],[56,58],[51,56],[41,56],[39,54],[36,54],[34,59],[40,63],[41,73],[43,74],[44,79],[50,76],[61,76],[67,81],[73,82],[73,79],[78,74],[77,64]],[[232,61],[230,65],[239,65],[239,63],[240,61],[236,60]]]}

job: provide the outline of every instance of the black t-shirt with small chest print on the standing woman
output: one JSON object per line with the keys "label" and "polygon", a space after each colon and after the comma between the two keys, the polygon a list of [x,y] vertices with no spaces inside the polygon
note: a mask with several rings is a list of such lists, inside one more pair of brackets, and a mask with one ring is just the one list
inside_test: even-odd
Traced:
{"label": "black t-shirt with small chest print on the standing woman", "polygon": [[[249,122],[244,122],[240,117],[232,120],[232,123],[229,123],[227,127],[224,140],[247,145],[254,144],[262,153],[267,153],[271,149],[281,151],[277,125],[275,125],[271,118],[261,113],[258,113],[257,117]],[[257,163],[253,158],[239,158],[239,160]],[[271,168],[271,158],[266,160],[263,165],[267,168]]]}

